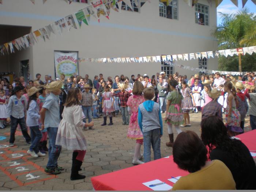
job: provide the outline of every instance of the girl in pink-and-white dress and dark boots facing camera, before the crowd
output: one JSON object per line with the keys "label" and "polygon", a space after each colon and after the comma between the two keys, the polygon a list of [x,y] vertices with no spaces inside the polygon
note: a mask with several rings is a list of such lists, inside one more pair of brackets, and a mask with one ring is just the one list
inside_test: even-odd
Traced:
{"label": "girl in pink-and-white dress and dark boots facing camera, before the crowd", "polygon": [[[102,113],[103,113],[103,124],[101,126],[104,126],[107,124],[107,115],[109,116],[110,123],[108,125],[113,125],[112,121],[112,112],[115,111],[114,109],[114,97],[113,93],[109,92],[109,86],[105,85],[104,93],[102,93]],[[110,97],[112,98],[112,101],[110,100]]]}

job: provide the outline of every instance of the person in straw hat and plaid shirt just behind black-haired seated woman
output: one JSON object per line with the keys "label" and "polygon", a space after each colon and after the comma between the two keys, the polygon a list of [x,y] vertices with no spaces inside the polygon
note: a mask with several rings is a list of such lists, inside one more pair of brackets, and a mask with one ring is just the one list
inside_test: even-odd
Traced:
{"label": "person in straw hat and plaid shirt just behind black-haired seated woman", "polygon": [[218,89],[213,89],[208,93],[212,101],[208,102],[202,111],[202,120],[211,117],[217,116],[222,120],[222,106],[217,102],[219,96],[221,96],[221,91]]}

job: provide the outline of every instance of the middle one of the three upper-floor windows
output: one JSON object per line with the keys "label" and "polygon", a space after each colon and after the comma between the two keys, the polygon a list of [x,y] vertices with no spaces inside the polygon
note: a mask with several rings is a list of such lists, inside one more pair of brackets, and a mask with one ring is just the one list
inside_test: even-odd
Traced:
{"label": "middle one of the three upper-floor windows", "polygon": [[178,20],[178,0],[159,0],[159,16]]}

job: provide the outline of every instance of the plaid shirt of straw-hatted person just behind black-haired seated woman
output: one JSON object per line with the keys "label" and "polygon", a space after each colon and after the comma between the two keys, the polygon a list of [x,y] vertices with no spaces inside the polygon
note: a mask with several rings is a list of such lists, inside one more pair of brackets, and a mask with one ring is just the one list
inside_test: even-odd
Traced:
{"label": "plaid shirt of straw-hatted person just behind black-haired seated woman", "polygon": [[210,101],[203,108],[202,120],[210,116],[217,116],[222,119],[222,106],[217,101]]}

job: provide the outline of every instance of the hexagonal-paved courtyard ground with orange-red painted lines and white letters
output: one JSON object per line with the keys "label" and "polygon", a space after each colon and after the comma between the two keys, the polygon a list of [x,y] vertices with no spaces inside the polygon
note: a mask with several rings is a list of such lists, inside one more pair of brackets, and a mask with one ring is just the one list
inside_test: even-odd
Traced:
{"label": "hexagonal-paved courtyard ground with orange-red painted lines and white letters", "polygon": [[[200,134],[201,113],[191,113],[192,130]],[[121,115],[113,117],[112,126],[101,127],[103,119],[95,120],[95,130],[84,131],[88,150],[80,174],[86,175],[84,180],[71,181],[72,151],[63,149],[59,165],[64,167],[63,173],[54,176],[44,173],[48,155],[33,158],[26,154],[29,146],[19,130],[16,131],[14,147],[8,147],[10,127],[0,129],[0,190],[92,190],[91,177],[134,166],[132,164],[135,141],[128,139],[127,125],[122,125]],[[109,120],[108,120],[109,121]],[[108,123],[107,121],[107,123]],[[246,118],[245,131],[249,131],[249,119]],[[177,133],[174,131],[174,139]],[[4,139],[6,137],[6,139]],[[161,138],[162,157],[172,155],[172,148],[166,147],[167,126],[164,125]]]}

